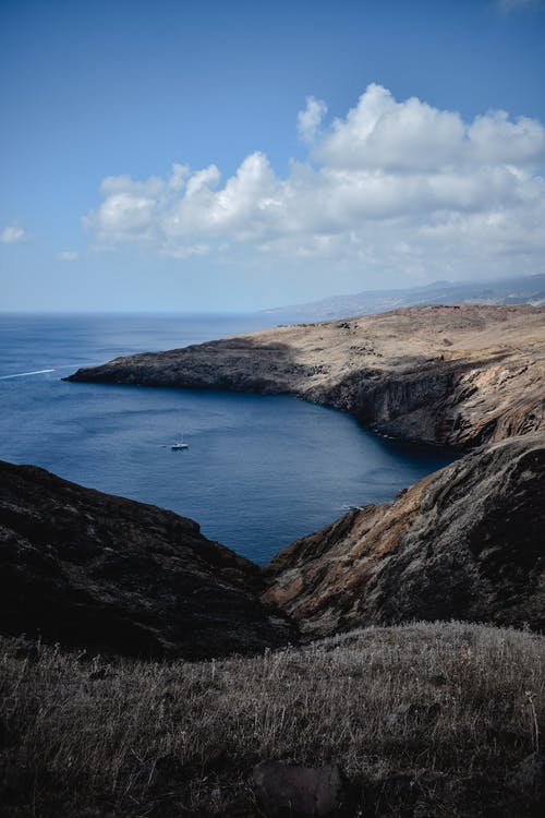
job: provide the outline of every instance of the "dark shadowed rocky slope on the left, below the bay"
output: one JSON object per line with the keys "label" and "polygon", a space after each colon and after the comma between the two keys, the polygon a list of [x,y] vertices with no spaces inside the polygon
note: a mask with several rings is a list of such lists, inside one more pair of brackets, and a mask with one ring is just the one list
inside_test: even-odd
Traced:
{"label": "dark shadowed rocky slope on the left, below the bay", "polygon": [[0,462],[0,629],[187,659],[296,640],[259,569],[171,512]]}

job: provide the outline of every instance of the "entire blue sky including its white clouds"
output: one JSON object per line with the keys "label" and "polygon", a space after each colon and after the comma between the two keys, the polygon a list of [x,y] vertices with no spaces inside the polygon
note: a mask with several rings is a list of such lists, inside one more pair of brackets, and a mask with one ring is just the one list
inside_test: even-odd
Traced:
{"label": "entire blue sky including its white clouds", "polygon": [[0,310],[543,272],[541,0],[3,0]]}

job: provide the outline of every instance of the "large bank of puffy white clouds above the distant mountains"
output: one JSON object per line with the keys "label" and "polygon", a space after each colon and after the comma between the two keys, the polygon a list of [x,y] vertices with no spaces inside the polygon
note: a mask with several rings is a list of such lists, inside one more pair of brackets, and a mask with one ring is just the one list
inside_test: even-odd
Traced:
{"label": "large bank of puffy white clouds above the distant mountains", "polygon": [[215,165],[177,164],[167,179],[108,177],[85,225],[107,245],[136,242],[178,258],[242,245],[417,278],[543,264],[541,122],[501,110],[464,122],[376,84],[324,128],[326,111],[306,100],[298,131],[307,157],[286,177],[261,152],[225,181]]}

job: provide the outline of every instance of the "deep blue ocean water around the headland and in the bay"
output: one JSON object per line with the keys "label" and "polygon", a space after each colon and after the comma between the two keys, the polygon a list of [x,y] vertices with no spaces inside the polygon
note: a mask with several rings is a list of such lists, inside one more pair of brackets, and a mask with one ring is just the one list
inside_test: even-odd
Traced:
{"label": "deep blue ocean water around the headland and in the bay", "polygon": [[[76,368],[274,326],[257,315],[1,315],[0,459],[154,503],[258,563],[453,459],[290,396],[65,383]],[[190,447],[172,452],[183,434]]]}

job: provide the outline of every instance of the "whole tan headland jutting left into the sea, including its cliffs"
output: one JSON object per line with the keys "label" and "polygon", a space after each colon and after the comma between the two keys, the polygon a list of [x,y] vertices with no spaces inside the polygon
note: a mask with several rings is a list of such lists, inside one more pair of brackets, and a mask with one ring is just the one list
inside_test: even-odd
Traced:
{"label": "whole tan headland jutting left into the sea, including its cliffs", "polygon": [[278,327],[68,380],[292,393],[395,437],[477,445],[545,429],[545,308],[419,306]]}

